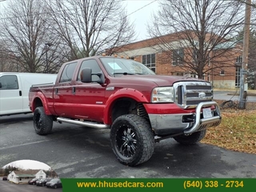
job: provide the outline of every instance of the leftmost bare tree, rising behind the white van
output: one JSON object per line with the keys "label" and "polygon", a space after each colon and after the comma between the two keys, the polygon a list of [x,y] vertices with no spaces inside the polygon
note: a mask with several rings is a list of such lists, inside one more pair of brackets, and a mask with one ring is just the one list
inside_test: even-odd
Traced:
{"label": "leftmost bare tree, rising behind the white van", "polygon": [[56,53],[62,53],[63,48],[52,32],[45,1],[8,1],[0,26],[6,52],[20,71],[48,73],[59,66],[62,57]]}

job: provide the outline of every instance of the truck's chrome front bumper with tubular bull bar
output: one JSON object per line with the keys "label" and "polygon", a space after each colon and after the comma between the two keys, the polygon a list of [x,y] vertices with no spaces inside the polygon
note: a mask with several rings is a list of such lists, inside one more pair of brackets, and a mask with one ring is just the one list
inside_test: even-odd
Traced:
{"label": "truck's chrome front bumper with tubular bull bar", "polygon": [[[202,109],[205,107],[211,107],[212,117],[202,117]],[[194,112],[184,113],[184,110],[182,112],[176,114],[149,114],[154,133],[157,135],[193,134],[211,126],[218,126],[222,121],[217,102],[201,102]]]}

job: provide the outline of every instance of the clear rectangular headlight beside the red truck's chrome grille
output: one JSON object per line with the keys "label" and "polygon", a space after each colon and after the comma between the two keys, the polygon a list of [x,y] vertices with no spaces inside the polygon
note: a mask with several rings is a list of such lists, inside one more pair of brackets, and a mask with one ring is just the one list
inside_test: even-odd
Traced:
{"label": "clear rectangular headlight beside the red truck's chrome grille", "polygon": [[174,87],[156,87],[151,94],[151,102],[174,102]]}

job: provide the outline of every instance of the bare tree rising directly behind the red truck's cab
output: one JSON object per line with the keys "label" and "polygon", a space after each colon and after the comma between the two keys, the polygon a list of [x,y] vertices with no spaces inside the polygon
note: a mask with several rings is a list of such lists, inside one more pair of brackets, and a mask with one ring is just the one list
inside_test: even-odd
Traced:
{"label": "bare tree rising directly behind the red truck's cab", "polygon": [[51,0],[48,3],[58,25],[56,33],[70,49],[69,60],[100,54],[134,38],[134,27],[118,0]]}

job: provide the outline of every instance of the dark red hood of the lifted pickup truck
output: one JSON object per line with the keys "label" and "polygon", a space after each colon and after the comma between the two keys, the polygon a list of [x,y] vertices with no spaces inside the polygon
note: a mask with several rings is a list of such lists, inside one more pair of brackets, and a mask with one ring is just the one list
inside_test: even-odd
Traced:
{"label": "dark red hood of the lifted pickup truck", "polygon": [[156,86],[173,86],[174,82],[181,81],[192,81],[192,82],[202,82],[203,80],[198,78],[189,78],[184,76],[167,76],[167,75],[122,75],[120,77],[115,77],[115,80],[118,82],[129,82],[141,85],[150,85],[152,82],[156,84]]}

